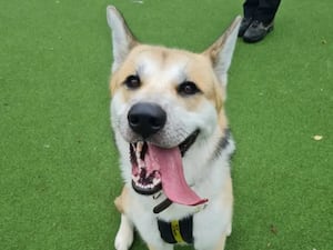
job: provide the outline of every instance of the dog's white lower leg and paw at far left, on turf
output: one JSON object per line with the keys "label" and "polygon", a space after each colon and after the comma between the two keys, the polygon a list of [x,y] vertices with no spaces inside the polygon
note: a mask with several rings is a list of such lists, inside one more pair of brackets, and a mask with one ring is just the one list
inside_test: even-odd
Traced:
{"label": "dog's white lower leg and paw at far left, on turf", "polygon": [[114,240],[114,248],[117,250],[130,249],[133,242],[133,234],[134,232],[132,223],[124,216],[122,216],[120,228]]}

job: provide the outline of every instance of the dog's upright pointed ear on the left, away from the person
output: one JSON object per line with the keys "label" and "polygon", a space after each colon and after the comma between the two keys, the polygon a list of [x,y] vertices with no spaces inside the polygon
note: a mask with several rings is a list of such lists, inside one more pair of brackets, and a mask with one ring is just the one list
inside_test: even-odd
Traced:
{"label": "dog's upright pointed ear on the left, away from the person", "polygon": [[121,13],[113,6],[107,8],[108,24],[112,30],[113,64],[112,72],[119,69],[131,49],[138,44]]}

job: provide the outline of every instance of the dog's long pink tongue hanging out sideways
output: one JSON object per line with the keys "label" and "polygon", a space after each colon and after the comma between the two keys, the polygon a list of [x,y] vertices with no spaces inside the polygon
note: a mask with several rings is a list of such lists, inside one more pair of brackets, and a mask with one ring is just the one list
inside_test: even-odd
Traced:
{"label": "dog's long pink tongue hanging out sideways", "polygon": [[171,201],[186,206],[196,206],[208,201],[201,199],[188,186],[182,168],[182,157],[178,147],[162,149],[149,144],[145,158],[149,168],[155,166],[160,169],[163,191]]}

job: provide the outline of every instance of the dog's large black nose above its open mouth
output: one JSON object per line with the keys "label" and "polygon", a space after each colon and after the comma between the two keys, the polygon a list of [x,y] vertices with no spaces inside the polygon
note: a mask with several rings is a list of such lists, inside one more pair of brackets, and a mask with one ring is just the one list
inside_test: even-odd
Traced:
{"label": "dog's large black nose above its open mouth", "polygon": [[145,139],[164,127],[167,113],[155,103],[139,102],[130,109],[128,120],[131,129]]}

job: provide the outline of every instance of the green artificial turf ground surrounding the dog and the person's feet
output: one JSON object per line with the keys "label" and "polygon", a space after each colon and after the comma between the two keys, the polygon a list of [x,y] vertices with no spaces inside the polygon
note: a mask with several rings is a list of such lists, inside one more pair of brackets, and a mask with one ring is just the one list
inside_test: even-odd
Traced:
{"label": "green artificial turf ground surrounding the dog and the person's feet", "polygon": [[[193,51],[242,12],[241,0],[142,2],[1,1],[1,250],[113,249],[121,179],[107,4],[141,40]],[[282,1],[264,41],[239,40],[228,99],[238,143],[229,250],[332,249],[332,0]],[[137,240],[134,249],[145,248]]]}

